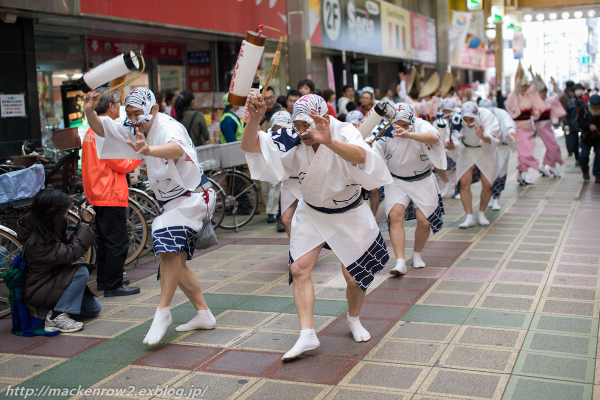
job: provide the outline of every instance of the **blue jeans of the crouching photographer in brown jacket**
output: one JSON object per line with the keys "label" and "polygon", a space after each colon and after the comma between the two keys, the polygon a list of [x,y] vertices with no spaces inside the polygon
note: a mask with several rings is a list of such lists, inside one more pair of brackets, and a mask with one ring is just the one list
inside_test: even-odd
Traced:
{"label": "blue jeans of the crouching photographer in brown jacket", "polygon": [[65,287],[61,298],[54,306],[54,311],[67,313],[73,319],[92,318],[100,314],[101,306],[98,299],[85,293],[88,278],[88,268],[85,265],[79,266],[71,283]]}

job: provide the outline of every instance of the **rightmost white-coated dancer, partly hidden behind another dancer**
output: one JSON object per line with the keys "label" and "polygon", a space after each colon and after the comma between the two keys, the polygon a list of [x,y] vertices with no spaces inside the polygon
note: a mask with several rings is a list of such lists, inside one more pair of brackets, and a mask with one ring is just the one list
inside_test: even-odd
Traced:
{"label": "rightmost white-coated dancer, partly hidden behind another dancer", "polygon": [[517,124],[511,118],[510,114],[502,108],[494,107],[491,99],[479,101],[479,109],[487,108],[498,120],[500,125],[500,143],[497,147],[498,163],[496,165],[496,180],[491,185],[491,198],[488,207],[492,210],[500,210],[500,194],[502,194],[506,185],[506,174],[508,174],[508,160],[511,157],[511,151],[517,151]]}

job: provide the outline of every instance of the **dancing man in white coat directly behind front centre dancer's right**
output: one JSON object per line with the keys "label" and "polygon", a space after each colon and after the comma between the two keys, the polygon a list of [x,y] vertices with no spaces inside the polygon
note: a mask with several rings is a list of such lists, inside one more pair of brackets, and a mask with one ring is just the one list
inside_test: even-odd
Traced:
{"label": "dancing man in white coat directly behind front centre dancer's right", "polygon": [[385,186],[385,213],[389,222],[396,265],[390,274],[406,274],[404,221],[416,219],[414,268],[423,268],[421,251],[429,237],[442,229],[444,208],[437,186],[435,168],[446,169],[446,151],[437,129],[416,118],[412,107],[398,103],[392,126],[374,141],[373,149],[387,160],[394,182]]}

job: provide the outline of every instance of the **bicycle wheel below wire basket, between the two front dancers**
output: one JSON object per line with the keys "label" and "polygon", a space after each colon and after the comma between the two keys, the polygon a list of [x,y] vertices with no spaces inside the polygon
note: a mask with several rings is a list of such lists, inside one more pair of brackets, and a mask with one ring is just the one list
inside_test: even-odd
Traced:
{"label": "bicycle wheel below wire basket, between the two front dancers", "polygon": [[237,231],[250,222],[259,207],[256,183],[244,172],[235,169],[218,171],[211,178],[223,187],[225,193],[225,215],[220,227]]}

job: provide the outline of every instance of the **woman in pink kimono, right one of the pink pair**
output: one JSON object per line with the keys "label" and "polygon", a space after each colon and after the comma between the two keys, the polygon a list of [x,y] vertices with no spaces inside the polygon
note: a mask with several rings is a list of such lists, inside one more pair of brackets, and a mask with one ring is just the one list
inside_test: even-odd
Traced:
{"label": "woman in pink kimono, right one of the pink pair", "polygon": [[[535,129],[538,132],[538,136],[544,142],[546,146],[546,154],[544,155],[544,163],[539,166],[539,172],[544,174],[544,176],[549,176],[550,174],[554,175],[556,178],[560,178],[560,172],[556,168],[556,164],[563,165],[565,161],[560,156],[560,147],[554,138],[554,130],[552,126],[552,119],[559,119],[566,115],[565,108],[563,108],[562,104],[560,104],[560,96],[562,92],[557,88],[556,81],[554,78],[551,78],[550,83],[554,86],[554,92],[556,92],[555,96],[547,97],[548,88],[546,84],[542,80],[542,78],[537,75],[538,80],[538,90],[533,91],[533,96],[539,96],[540,100],[546,104],[546,109],[542,111],[539,115],[539,118],[535,120]],[[550,174],[546,171],[545,165],[550,166]]]}

